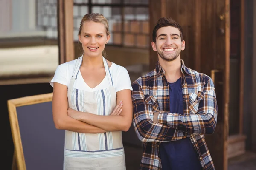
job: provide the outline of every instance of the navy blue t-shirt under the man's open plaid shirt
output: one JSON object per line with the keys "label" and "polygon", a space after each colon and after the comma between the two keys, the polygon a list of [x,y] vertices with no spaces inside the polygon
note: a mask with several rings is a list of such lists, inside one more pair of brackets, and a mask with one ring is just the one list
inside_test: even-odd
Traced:
{"label": "navy blue t-shirt under the man's open plaid shirt", "polygon": [[[169,83],[170,112],[183,114],[181,78]],[[189,138],[162,142],[159,146],[162,170],[201,170],[197,153]]]}

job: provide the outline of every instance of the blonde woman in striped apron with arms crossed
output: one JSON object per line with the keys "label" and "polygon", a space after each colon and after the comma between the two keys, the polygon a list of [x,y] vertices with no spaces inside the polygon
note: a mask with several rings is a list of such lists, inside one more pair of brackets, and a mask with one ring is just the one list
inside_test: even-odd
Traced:
{"label": "blonde woman in striped apron with arms crossed", "polygon": [[109,39],[106,18],[86,14],[79,28],[84,54],[59,65],[50,82],[55,127],[66,130],[66,170],[125,170],[122,131],[131,126],[132,88],[127,70],[102,57]]}

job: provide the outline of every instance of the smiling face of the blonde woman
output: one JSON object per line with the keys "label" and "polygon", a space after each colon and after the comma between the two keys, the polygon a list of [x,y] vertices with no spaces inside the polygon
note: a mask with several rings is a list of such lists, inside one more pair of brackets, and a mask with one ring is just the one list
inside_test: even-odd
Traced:
{"label": "smiling face of the blonde woman", "polygon": [[109,39],[110,35],[107,36],[105,26],[93,21],[84,22],[79,35],[84,55],[88,57],[102,57],[102,51]]}

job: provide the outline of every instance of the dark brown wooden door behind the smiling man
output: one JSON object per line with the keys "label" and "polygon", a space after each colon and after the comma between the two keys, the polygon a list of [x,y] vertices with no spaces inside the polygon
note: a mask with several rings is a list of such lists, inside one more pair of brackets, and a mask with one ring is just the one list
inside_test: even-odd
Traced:
{"label": "dark brown wooden door behind the smiling man", "polygon": [[[216,170],[227,170],[230,0],[150,1],[150,30],[160,17],[172,17],[183,28],[186,66],[212,77],[218,102],[215,132],[205,135]],[[150,51],[150,69],[157,56]]]}

